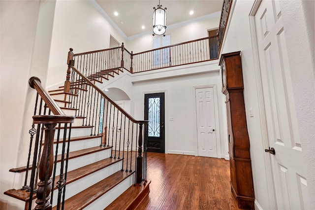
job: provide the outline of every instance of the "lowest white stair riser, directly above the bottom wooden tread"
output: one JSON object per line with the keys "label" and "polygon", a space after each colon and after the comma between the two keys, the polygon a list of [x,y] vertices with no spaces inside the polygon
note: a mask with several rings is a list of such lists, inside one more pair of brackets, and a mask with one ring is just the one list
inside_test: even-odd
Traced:
{"label": "lowest white stair riser, directly above the bottom wooden tread", "polygon": [[134,175],[130,175],[113,189],[99,197],[95,202],[84,208],[84,210],[103,210],[112,203],[118,196],[125,192],[134,182]]}

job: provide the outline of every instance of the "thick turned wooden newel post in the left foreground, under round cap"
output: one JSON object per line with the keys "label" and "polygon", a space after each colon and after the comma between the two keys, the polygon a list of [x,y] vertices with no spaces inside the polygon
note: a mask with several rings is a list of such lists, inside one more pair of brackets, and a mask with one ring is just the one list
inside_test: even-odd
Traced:
{"label": "thick turned wooden newel post in the left foreground, under round cap", "polygon": [[[44,149],[41,155],[40,164],[39,164],[39,182],[37,183],[38,189],[36,192],[36,207],[35,210],[41,210],[44,206],[44,210],[51,210],[52,205],[49,202],[50,192],[52,189],[52,180],[50,176],[53,172],[54,166],[54,135],[57,123],[45,123],[45,141]],[[46,174],[47,173],[47,174]],[[47,179],[46,189],[45,189],[45,180]]]}

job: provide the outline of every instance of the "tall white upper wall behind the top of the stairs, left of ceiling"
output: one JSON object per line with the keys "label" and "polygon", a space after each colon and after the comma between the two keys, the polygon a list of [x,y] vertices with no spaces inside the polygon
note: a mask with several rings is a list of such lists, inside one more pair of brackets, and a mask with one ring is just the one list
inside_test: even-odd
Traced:
{"label": "tall white upper wall behind the top of the stairs, left of ceiling", "polygon": [[90,1],[56,1],[47,86],[63,85],[70,47],[74,53],[105,49],[110,35],[126,43]]}

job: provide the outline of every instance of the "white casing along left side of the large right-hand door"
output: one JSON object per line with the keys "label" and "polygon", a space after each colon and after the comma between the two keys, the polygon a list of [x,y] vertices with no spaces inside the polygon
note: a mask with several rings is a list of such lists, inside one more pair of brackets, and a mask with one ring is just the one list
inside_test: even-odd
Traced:
{"label": "white casing along left side of the large right-hand door", "polygon": [[[261,74],[260,74],[260,65],[259,65],[259,56],[258,56],[258,43],[256,36],[256,27],[255,27],[255,17],[259,5],[262,0],[255,0],[252,5],[251,12],[249,14],[250,28],[251,28],[251,36],[252,36],[252,56],[253,62],[255,66],[255,74],[256,74],[256,85],[257,85],[257,98],[258,98],[258,111],[260,116],[260,130],[261,130],[261,139],[262,144],[265,148],[269,147],[268,142],[268,134],[267,134],[267,122],[265,118],[265,108],[264,108],[264,99],[263,99],[263,91],[262,91],[262,83],[261,83]],[[269,204],[272,209],[277,209],[276,203],[276,193],[274,186],[274,179],[272,175],[272,166],[270,155],[264,155],[264,163],[265,163],[265,177],[267,180],[267,189],[268,189],[268,197]],[[256,201],[255,201],[256,203]],[[258,204],[258,203],[257,203]]]}

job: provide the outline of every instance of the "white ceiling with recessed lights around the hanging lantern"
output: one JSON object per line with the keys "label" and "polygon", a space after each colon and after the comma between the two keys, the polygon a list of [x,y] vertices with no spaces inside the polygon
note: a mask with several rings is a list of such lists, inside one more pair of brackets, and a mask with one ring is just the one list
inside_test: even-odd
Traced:
{"label": "white ceiling with recessed lights around the hanging lantern", "polygon": [[[91,0],[95,7],[109,21],[116,24],[126,37],[142,33],[152,33],[153,7],[158,6],[158,0]],[[221,12],[223,0],[160,0],[162,8],[166,9],[166,26],[176,25],[185,21],[201,18],[215,12]],[[98,5],[97,5],[98,4]],[[193,10],[193,15],[189,11]],[[118,12],[118,16],[114,12]],[[124,24],[121,24],[121,21]],[[141,29],[145,26],[145,29]],[[219,27],[219,26],[218,26]],[[166,28],[167,31],[167,28]],[[125,36],[124,35],[124,36]]]}

